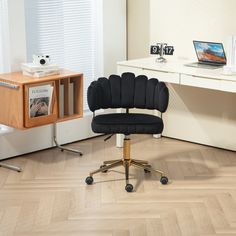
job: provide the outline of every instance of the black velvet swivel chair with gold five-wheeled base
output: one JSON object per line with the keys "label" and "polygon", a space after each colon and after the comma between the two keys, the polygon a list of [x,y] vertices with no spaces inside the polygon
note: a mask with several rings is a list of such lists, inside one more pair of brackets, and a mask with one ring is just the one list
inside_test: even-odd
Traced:
{"label": "black velvet swivel chair with gold five-wheeled base", "polygon": [[[161,174],[162,184],[168,183],[168,178],[160,170],[153,169],[147,161],[131,159],[130,134],[161,134],[163,121],[161,117],[148,114],[130,113],[130,108],[141,108],[165,112],[169,102],[169,92],[165,83],[157,79],[148,79],[144,75],[135,77],[133,73],[123,73],[122,76],[111,75],[109,79],[99,78],[88,88],[88,105],[94,113],[92,130],[95,133],[124,134],[123,159],[104,161],[96,171],[86,178],[87,184],[93,183],[93,175],[105,173],[109,169],[123,165],[125,167],[126,191],[132,192],[133,185],[129,183],[129,167],[142,168],[146,172]],[[124,113],[95,115],[95,111],[108,108],[124,108]]]}

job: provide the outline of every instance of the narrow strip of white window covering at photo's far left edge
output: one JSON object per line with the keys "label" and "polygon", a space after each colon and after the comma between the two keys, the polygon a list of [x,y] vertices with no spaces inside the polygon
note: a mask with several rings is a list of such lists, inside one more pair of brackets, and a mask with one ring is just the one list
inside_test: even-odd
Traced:
{"label": "narrow strip of white window covering at photo's far left edge", "polygon": [[10,71],[7,0],[0,0],[0,73]]}

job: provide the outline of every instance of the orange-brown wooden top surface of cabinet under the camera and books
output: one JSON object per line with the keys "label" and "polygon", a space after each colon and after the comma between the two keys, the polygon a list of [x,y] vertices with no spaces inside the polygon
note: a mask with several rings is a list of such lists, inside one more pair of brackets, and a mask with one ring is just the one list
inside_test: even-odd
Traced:
{"label": "orange-brown wooden top surface of cabinet under the camera and books", "polygon": [[60,80],[66,77],[76,77],[76,76],[82,76],[82,73],[72,72],[68,70],[61,70],[58,75],[50,75],[41,78],[35,78],[23,75],[21,71],[18,71],[7,74],[0,74],[0,81],[5,81],[17,85],[23,85],[23,84],[47,82],[52,80]]}

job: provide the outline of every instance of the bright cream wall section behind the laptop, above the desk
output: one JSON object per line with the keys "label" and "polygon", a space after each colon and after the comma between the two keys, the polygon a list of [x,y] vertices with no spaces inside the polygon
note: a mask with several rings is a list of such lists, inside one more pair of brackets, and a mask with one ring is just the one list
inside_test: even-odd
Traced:
{"label": "bright cream wall section behind the laptop, above the desk", "polygon": [[192,41],[223,42],[236,34],[235,0],[150,0],[150,39],[175,46],[175,55],[196,59]]}

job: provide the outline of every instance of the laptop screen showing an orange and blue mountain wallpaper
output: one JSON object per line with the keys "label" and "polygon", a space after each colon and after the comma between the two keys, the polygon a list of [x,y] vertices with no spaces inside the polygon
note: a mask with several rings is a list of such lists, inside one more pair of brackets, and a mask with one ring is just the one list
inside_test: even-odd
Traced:
{"label": "laptop screen showing an orange and blue mountain wallpaper", "polygon": [[226,64],[225,51],[222,43],[193,41],[199,62]]}

